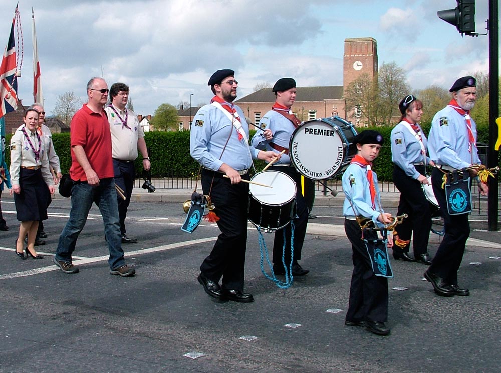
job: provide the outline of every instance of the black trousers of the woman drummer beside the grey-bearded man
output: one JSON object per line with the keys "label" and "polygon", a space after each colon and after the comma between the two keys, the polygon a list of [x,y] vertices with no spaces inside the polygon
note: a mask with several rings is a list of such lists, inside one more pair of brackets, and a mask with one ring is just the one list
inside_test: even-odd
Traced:
{"label": "black trousers of the woman drummer beside the grey-bearded man", "polygon": [[[426,167],[415,166],[416,171],[421,175],[426,175]],[[393,167],[393,183],[400,191],[400,201],[398,203],[397,215],[406,213],[409,215],[403,219],[402,223],[397,225],[396,231],[398,237],[404,241],[410,240],[412,230],[414,230],[414,257],[424,254],[428,251],[428,240],[431,229],[431,212],[428,200],[424,195],[421,183],[412,177],[409,177],[398,166]],[[400,250],[400,247],[393,246],[394,250]],[[403,249],[409,252],[409,246]]]}

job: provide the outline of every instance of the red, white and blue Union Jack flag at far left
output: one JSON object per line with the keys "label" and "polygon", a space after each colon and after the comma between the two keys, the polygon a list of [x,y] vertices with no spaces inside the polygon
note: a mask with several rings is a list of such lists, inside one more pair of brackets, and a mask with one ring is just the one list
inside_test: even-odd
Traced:
{"label": "red, white and blue Union Jack flag at far left", "polygon": [[[17,12],[18,8],[16,7]],[[12,20],[11,35],[0,65],[0,118],[18,108],[18,79],[16,76],[17,63],[14,43],[15,24],[16,16]]]}

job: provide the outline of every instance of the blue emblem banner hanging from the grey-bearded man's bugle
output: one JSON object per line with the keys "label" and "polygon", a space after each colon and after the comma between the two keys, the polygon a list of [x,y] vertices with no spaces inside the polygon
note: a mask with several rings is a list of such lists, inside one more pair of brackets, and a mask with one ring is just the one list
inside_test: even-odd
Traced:
{"label": "blue emblem banner hanging from the grey-bearded man's bugle", "polygon": [[449,215],[463,215],[471,212],[471,178],[468,171],[458,170],[447,174],[445,198]]}

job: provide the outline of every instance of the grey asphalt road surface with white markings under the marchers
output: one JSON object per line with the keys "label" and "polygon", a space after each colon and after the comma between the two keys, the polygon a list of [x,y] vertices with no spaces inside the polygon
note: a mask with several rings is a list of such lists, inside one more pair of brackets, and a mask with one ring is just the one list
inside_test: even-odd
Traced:
{"label": "grey asphalt road surface with white markings under the marchers", "polygon": [[[180,230],[179,203],[132,203],[127,233],[139,242],[124,250],[137,274],[122,278],[109,273],[102,219],[93,207],[74,253],[80,273],[64,274],[52,259],[69,206],[55,200],[50,207],[47,245],[37,247],[44,260],[20,260],[14,204],[2,201],[11,229],[0,232],[0,372],[501,370],[495,245],[467,247],[459,285],[470,289],[469,297],[439,297],[423,281],[424,265],[393,261],[391,335],[381,337],[344,326],[353,266],[342,235],[307,234],[301,265],[310,273],[281,289],[261,273],[258,234],[249,228],[245,291],[255,302],[219,302],[196,280],[216,226],[203,223],[190,235]],[[339,208],[314,213],[312,224],[342,224]],[[493,241],[497,234],[489,233]],[[271,248],[273,235],[265,240]],[[434,254],[439,237],[430,241]]]}

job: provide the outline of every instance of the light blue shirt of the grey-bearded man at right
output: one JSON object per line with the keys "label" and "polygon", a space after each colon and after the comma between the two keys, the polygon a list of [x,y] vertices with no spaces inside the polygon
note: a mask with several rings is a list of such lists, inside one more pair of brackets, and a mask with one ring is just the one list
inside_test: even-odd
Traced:
{"label": "light blue shirt of the grey-bearded man at right", "polygon": [[[476,139],[476,124],[471,119],[471,130]],[[430,157],[436,164],[447,165],[455,169],[468,167],[473,163],[480,164],[478,150],[472,146],[468,151],[469,137],[466,119],[452,107],[438,111],[431,122],[428,138]]]}

